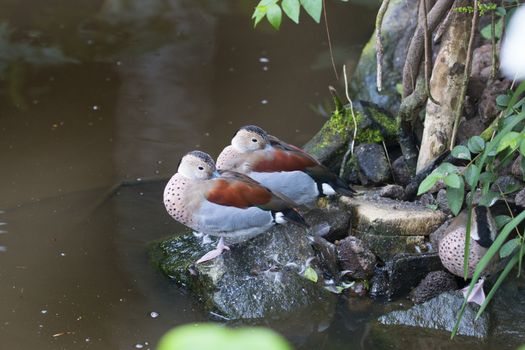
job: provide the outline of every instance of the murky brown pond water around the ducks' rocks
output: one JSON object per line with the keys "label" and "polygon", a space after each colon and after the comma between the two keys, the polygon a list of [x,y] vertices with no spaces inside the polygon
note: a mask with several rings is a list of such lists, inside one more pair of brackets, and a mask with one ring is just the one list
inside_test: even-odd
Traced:
{"label": "murky brown pond water around the ducks' rocks", "polygon": [[[147,349],[209,319],[148,261],[147,243],[180,229],[163,181],[244,124],[304,144],[327,86],[342,91],[323,26],[303,14],[254,30],[254,4],[0,0],[0,348]],[[375,2],[327,4],[336,64],[351,70]],[[372,337],[383,308],[341,300],[322,329],[283,332],[301,349],[480,347]]]}

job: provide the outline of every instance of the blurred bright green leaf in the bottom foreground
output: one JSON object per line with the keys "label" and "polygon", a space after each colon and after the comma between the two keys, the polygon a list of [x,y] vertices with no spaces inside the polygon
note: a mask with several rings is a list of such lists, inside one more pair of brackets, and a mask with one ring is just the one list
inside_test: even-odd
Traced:
{"label": "blurred bright green leaf in the bottom foreground", "polygon": [[159,341],[158,350],[291,350],[276,332],[261,327],[228,328],[200,323],[176,327]]}

